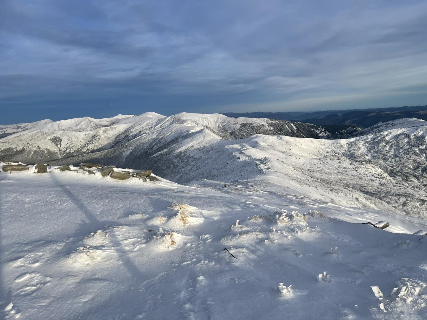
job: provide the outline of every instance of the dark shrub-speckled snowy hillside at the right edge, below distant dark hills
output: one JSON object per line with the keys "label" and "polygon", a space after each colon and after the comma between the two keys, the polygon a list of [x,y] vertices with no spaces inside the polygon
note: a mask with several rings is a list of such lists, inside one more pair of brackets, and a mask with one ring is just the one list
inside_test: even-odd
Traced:
{"label": "dark shrub-speckled snowy hillside at the right edge, below distant dark hills", "polygon": [[400,202],[408,214],[427,213],[427,122],[398,119],[365,130],[366,135],[342,142],[345,157],[386,174],[385,201]]}

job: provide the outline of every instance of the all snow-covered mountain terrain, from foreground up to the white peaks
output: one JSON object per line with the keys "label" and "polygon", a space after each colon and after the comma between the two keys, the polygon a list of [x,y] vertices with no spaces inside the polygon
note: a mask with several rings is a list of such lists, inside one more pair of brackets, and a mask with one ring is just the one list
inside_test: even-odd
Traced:
{"label": "all snow-covered mountain terrain, from foreground up to the white peaks", "polygon": [[1,139],[16,160],[163,178],[0,163],[0,317],[426,319],[426,122],[332,140],[253,121],[145,113]]}

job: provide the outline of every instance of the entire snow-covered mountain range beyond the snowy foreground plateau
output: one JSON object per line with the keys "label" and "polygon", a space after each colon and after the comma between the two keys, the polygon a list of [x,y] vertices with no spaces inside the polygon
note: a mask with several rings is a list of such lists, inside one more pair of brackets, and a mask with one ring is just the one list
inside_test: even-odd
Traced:
{"label": "entire snow-covered mountain range beyond the snowy foreground plateau", "polygon": [[301,138],[331,135],[298,122],[144,113],[51,122],[1,139],[0,154],[153,169],[178,183],[257,179],[326,202],[427,216],[426,122],[399,119],[363,132]]}

